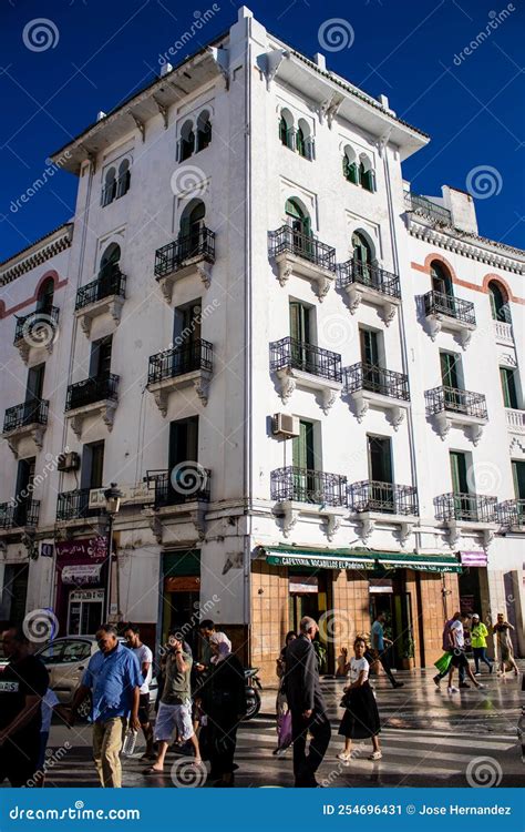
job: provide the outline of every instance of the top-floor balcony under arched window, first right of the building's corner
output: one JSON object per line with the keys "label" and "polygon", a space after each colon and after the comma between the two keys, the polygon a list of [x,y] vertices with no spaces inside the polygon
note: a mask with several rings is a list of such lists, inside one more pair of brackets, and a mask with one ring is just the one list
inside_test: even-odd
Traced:
{"label": "top-floor balcony under arched window, first right of the building's corner", "polygon": [[322,301],[336,280],[336,250],[290,225],[270,231],[268,239],[269,256],[277,263],[280,285],[284,286],[291,274],[307,277],[316,284],[319,301]]}

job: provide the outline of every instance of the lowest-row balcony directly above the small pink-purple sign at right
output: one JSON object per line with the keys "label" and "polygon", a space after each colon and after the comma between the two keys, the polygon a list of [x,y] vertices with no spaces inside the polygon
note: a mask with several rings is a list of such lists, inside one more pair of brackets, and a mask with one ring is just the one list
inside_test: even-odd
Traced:
{"label": "lowest-row balcony directly above the small pink-purple sign at right", "polygon": [[441,494],[434,498],[435,518],[449,529],[450,544],[455,546],[462,530],[477,531],[488,546],[496,530],[496,497],[484,494]]}

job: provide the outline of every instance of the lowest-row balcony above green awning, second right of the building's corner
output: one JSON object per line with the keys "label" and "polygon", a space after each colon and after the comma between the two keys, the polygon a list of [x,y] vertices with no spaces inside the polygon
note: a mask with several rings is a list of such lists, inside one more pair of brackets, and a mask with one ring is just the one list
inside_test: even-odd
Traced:
{"label": "lowest-row balcony above green awning, second right of the building's corner", "polygon": [[348,505],[351,511],[359,515],[363,542],[367,542],[375,526],[392,525],[397,528],[399,542],[404,546],[419,516],[414,486],[373,479],[349,485]]}

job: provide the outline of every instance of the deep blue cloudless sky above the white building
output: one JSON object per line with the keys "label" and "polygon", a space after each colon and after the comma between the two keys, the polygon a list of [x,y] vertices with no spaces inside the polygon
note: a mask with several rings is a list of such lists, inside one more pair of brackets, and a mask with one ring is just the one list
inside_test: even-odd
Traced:
{"label": "deep blue cloudless sky above the white building", "polygon": [[[197,51],[225,31],[239,4],[218,0],[219,11],[185,51]],[[523,0],[255,0],[248,6],[274,34],[307,55],[325,52],[329,69],[372,95],[385,93],[398,115],[430,133],[430,145],[403,168],[414,191],[439,195],[442,184],[467,190],[470,181],[478,194],[480,233],[525,248]],[[152,81],[158,54],[212,7],[209,0],[2,0],[0,260],[74,213],[76,179],[60,171],[20,203],[49,154],[93,122],[99,110],[111,110]],[[49,40],[39,40],[39,18],[51,21]],[[329,51],[319,40],[323,24],[329,37],[327,21],[336,18],[346,41]],[[465,54],[482,31],[490,34]],[[475,169],[488,173],[476,177]]]}

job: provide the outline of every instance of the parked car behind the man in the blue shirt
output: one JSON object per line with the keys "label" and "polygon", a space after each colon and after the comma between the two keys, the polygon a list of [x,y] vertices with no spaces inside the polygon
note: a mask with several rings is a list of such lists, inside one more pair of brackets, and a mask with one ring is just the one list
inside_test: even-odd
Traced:
{"label": "parked car behind the man in the blue shirt", "polygon": [[[125,645],[124,639],[119,639]],[[50,687],[61,704],[70,706],[80,687],[87,662],[97,650],[94,636],[64,636],[49,641],[37,651],[49,671]],[[155,704],[157,682],[155,677],[150,684],[150,703]],[[79,708],[79,717],[87,719],[91,712],[91,696]]]}

